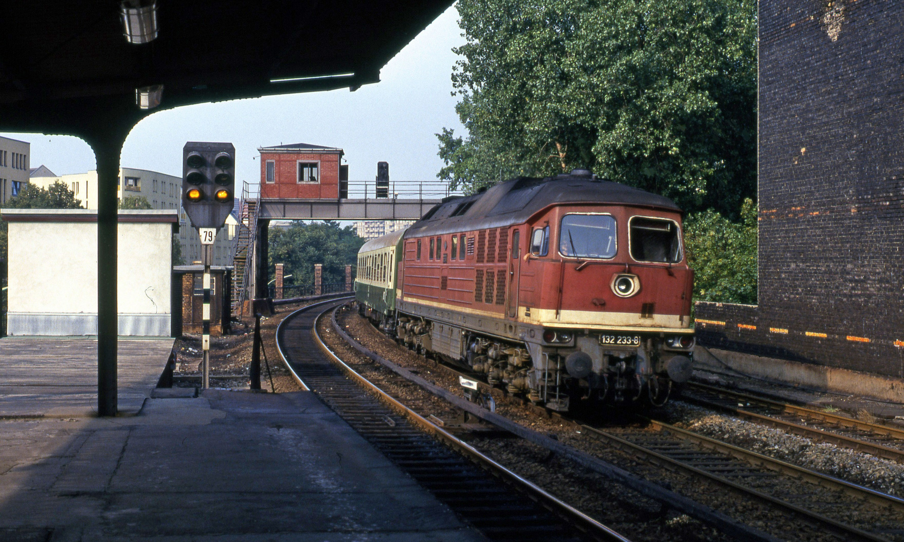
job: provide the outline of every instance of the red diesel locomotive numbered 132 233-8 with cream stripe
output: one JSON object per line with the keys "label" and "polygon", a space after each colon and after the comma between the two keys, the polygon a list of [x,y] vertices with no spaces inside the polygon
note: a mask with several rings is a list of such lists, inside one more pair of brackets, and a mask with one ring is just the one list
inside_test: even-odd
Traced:
{"label": "red diesel locomotive numbered 132 233-8 with cream stripe", "polygon": [[383,329],[555,410],[662,405],[692,370],[681,224],[587,170],[447,199],[398,240]]}

